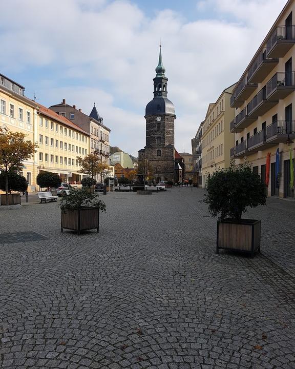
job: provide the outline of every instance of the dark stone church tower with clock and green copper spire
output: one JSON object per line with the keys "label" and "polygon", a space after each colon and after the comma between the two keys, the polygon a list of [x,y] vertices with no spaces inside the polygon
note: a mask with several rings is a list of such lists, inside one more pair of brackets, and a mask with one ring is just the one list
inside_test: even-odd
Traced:
{"label": "dark stone church tower with clock and green copper spire", "polygon": [[147,160],[156,182],[175,181],[174,105],[167,99],[167,81],[160,46],[154,81],[154,98],[146,105],[146,141],[138,152],[139,163]]}

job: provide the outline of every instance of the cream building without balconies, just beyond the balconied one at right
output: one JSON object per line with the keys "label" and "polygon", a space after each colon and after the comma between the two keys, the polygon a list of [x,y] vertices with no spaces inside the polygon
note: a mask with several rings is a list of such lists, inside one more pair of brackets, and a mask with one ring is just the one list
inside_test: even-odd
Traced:
{"label": "cream building without balconies, just beyond the balconied one at right", "polygon": [[235,110],[230,107],[230,97],[235,86],[226,88],[216,103],[209,104],[205,120],[202,122],[201,187],[206,185],[209,174],[229,166],[229,152],[234,145],[234,135],[230,133],[230,122],[235,114]]}

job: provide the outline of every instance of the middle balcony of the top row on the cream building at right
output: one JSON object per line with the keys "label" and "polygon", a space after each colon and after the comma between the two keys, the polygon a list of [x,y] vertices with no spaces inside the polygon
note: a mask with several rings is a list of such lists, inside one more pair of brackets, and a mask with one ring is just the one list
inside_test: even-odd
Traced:
{"label": "middle balcony of the top row on the cream building at right", "polygon": [[278,63],[278,58],[266,57],[266,49],[263,49],[248,69],[248,83],[261,83]]}

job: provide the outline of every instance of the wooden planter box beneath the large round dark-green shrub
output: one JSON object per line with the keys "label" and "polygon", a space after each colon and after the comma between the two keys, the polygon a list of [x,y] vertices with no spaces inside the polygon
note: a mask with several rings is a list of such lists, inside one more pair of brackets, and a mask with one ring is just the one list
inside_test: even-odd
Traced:
{"label": "wooden planter box beneath the large round dark-green shrub", "polygon": [[260,220],[241,219],[239,222],[225,219],[217,222],[216,252],[219,249],[250,253],[260,251]]}

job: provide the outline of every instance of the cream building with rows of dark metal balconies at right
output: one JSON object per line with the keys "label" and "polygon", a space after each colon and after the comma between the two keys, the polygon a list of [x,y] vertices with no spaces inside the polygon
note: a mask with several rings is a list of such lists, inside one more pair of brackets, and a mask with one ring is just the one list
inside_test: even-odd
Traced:
{"label": "cream building with rows of dark metal balconies at right", "polygon": [[[270,153],[268,195],[293,197],[290,188],[290,149],[294,137],[295,109],[295,1],[289,0],[242,74],[231,98],[236,108],[231,132],[235,145],[230,157],[236,163],[245,158],[266,181],[267,154]],[[276,174],[276,152],[279,171]]]}

